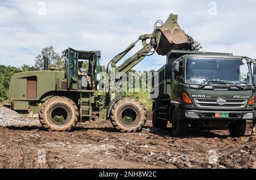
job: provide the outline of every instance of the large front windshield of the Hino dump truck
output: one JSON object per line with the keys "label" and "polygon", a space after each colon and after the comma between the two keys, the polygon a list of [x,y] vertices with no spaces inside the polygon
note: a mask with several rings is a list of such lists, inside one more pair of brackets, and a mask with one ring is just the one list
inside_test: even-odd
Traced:
{"label": "large front windshield of the Hino dump truck", "polygon": [[185,82],[195,85],[229,82],[239,86],[252,84],[250,65],[240,58],[187,58]]}

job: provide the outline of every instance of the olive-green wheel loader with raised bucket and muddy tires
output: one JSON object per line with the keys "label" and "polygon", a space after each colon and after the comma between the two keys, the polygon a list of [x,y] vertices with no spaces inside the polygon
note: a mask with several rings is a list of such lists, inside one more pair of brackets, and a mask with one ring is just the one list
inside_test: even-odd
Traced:
{"label": "olive-green wheel loader with raised bucket and muddy tires", "polygon": [[[143,48],[117,66],[140,40]],[[139,36],[135,43],[115,56],[108,64],[107,76],[114,69],[114,83],[118,83],[118,73],[129,72],[146,56],[154,52],[164,56],[187,45],[188,39],[177,23],[177,15],[171,14],[165,23],[161,20],[155,23],[152,34]],[[117,95],[115,90],[106,92],[99,88],[103,71],[100,51],[68,48],[64,56],[64,72],[49,68],[46,60],[44,70],[14,74],[5,106],[20,113],[38,114],[40,123],[49,131],[71,131],[78,122],[98,119],[109,119],[120,132],[141,130],[147,118],[143,104],[137,99]],[[86,77],[79,75],[80,61],[86,61]]]}

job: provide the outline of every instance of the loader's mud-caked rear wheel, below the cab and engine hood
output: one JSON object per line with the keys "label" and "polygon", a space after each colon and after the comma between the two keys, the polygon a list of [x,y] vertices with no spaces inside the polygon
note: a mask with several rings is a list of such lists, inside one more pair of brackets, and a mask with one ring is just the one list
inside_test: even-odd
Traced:
{"label": "loader's mud-caked rear wheel, below the cab and engine hood", "polygon": [[39,118],[49,131],[71,131],[79,119],[79,110],[71,99],[53,97],[42,104]]}

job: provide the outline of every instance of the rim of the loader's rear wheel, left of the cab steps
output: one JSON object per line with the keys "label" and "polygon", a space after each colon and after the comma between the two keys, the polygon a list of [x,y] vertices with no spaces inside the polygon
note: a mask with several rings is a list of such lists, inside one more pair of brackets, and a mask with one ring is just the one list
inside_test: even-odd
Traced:
{"label": "rim of the loader's rear wheel, left of the cab steps", "polygon": [[68,119],[68,110],[64,107],[57,106],[51,111],[51,120],[56,124],[63,124]]}

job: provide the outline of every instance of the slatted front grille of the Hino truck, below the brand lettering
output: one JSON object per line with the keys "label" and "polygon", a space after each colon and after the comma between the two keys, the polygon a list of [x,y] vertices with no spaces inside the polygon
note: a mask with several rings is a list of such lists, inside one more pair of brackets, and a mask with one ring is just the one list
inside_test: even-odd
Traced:
{"label": "slatted front grille of the Hino truck, below the brand lettering", "polygon": [[247,99],[226,99],[226,104],[220,105],[217,99],[194,99],[199,107],[220,107],[220,108],[243,108],[247,104]]}

